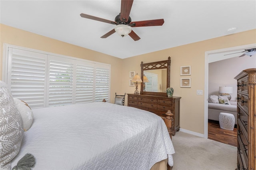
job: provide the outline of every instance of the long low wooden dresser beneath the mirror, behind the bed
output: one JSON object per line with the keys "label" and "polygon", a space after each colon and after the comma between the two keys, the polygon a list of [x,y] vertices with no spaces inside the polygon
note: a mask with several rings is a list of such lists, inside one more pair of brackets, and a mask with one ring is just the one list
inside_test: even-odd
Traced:
{"label": "long low wooden dresser beneath the mirror, behind the bed", "polygon": [[180,130],[180,98],[161,95],[134,95],[128,94],[128,106],[150,111],[160,117],[166,117],[165,113],[170,110],[174,117],[174,130]]}

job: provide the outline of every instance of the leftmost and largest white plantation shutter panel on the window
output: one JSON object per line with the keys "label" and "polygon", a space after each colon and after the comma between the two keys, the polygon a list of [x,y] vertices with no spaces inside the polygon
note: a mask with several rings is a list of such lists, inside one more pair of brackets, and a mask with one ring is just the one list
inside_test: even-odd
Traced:
{"label": "leftmost and largest white plantation shutter panel on the window", "polygon": [[8,48],[8,77],[12,96],[32,108],[45,107],[46,54]]}

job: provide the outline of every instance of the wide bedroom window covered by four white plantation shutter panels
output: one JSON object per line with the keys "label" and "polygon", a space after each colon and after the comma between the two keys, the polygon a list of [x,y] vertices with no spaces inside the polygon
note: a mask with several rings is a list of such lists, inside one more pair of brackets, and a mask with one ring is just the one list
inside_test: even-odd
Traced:
{"label": "wide bedroom window covered by four white plantation shutter panels", "polygon": [[[110,65],[8,46],[3,69],[14,98],[31,108],[108,101]],[[8,74],[7,74],[8,73]]]}

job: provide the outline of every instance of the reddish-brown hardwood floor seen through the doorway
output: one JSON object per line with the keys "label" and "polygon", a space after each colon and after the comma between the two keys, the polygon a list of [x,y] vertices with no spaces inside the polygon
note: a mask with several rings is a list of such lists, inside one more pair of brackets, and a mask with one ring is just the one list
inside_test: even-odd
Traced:
{"label": "reddish-brown hardwood floor seen through the doorway", "polygon": [[236,127],[232,131],[224,130],[220,128],[220,124],[218,123],[218,121],[209,121],[208,122],[208,139],[237,147]]}

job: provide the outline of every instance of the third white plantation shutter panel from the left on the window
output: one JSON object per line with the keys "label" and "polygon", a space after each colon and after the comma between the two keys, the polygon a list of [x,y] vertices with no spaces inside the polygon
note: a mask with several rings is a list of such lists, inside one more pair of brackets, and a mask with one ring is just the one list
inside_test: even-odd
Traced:
{"label": "third white plantation shutter panel from the left on the window", "polygon": [[76,65],[76,101],[75,103],[89,103],[93,101],[94,67]]}

